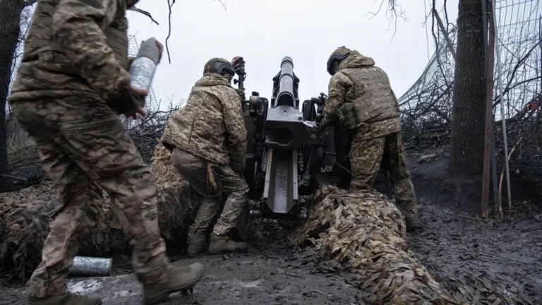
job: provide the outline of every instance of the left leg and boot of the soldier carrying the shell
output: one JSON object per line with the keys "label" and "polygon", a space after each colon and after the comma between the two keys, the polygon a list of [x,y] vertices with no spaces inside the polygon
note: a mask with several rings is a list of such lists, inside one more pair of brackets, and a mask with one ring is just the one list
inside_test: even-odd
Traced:
{"label": "left leg and boot of the soldier carrying the shell", "polygon": [[95,225],[103,196],[83,169],[61,148],[63,138],[44,116],[54,100],[12,104],[16,118],[35,140],[42,167],[52,179],[63,206],[53,215],[42,248],[42,261],[26,283],[28,304],[99,304],[99,298],[70,296],[68,268],[78,251],[81,232]]}

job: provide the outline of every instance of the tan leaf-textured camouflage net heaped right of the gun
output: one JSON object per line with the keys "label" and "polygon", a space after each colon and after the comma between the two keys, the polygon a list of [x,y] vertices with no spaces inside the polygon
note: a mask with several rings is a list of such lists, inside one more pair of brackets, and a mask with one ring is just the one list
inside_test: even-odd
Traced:
{"label": "tan leaf-textured camouflage net heaped right of the gun", "polygon": [[393,203],[377,193],[322,186],[311,205],[294,241],[310,242],[307,256],[351,273],[369,303],[467,304],[452,297],[408,250],[404,219]]}

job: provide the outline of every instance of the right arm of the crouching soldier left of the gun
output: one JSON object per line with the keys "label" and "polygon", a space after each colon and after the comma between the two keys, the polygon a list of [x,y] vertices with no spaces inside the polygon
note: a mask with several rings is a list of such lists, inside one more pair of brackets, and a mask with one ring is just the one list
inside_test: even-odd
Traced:
{"label": "right arm of the crouching soldier left of the gun", "polygon": [[226,126],[229,143],[229,160],[231,169],[242,172],[245,169],[246,128],[239,95],[235,90],[224,90],[222,107],[224,110],[224,126]]}

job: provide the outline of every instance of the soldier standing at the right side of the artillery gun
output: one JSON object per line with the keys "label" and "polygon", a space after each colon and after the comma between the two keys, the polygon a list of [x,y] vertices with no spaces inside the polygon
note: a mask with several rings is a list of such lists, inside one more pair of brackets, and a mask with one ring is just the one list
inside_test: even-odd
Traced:
{"label": "soldier standing at the right side of the artillery gun", "polygon": [[352,132],[351,189],[372,188],[384,162],[407,226],[417,227],[418,205],[404,161],[399,104],[387,74],[370,57],[346,47],[331,54],[327,72],[332,78],[322,124],[339,121]]}

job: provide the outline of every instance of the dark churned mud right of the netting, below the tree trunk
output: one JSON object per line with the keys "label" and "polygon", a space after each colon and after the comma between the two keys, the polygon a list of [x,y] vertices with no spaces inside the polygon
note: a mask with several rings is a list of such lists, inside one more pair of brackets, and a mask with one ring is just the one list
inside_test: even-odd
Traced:
{"label": "dark churned mud right of the netting, below the tree trunk", "polygon": [[[447,157],[409,167],[419,197],[421,232],[409,234],[411,249],[430,273],[449,289],[462,283],[490,286],[502,295],[522,294],[542,304],[542,205],[534,200],[505,207],[481,219],[480,201],[454,205],[446,177]],[[524,189],[536,198],[538,189]],[[512,189],[512,193],[514,189]],[[466,292],[469,293],[469,292]],[[472,293],[472,292],[471,292]],[[476,293],[476,292],[474,292]],[[495,304],[513,304],[495,297]]]}

